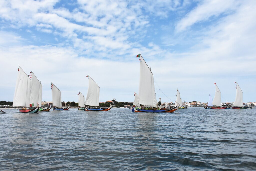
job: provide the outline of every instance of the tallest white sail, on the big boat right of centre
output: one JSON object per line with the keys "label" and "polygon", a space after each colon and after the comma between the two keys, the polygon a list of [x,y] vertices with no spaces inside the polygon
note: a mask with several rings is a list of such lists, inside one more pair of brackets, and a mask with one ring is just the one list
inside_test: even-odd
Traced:
{"label": "tallest white sail, on the big boat right of centre", "polygon": [[140,61],[140,86],[137,103],[141,105],[156,107],[157,100],[153,73],[141,55]]}

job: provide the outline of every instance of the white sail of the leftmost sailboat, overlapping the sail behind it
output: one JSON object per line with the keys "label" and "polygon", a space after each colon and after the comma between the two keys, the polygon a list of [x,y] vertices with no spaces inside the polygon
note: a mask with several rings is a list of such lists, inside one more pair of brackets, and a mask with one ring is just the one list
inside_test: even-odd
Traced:
{"label": "white sail of the leftmost sailboat, overlapping the sail behind it", "polygon": [[28,75],[19,66],[13,97],[13,107],[30,106],[30,84],[31,80],[29,79]]}

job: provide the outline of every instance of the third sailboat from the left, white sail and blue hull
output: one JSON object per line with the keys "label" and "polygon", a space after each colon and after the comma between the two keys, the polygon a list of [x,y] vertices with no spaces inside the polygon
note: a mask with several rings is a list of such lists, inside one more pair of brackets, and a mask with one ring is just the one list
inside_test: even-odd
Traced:
{"label": "third sailboat from the left, white sail and blue hull", "polygon": [[61,92],[54,84],[51,83],[52,105],[53,110],[68,110],[70,106],[62,107],[61,104]]}

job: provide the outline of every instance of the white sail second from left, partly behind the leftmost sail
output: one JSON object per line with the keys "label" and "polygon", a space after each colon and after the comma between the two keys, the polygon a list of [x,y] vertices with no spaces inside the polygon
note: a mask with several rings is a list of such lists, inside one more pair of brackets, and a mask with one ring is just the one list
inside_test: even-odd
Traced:
{"label": "white sail second from left, partly behind the leftmost sail", "polygon": [[42,103],[42,84],[37,79],[35,74],[31,71],[31,103],[34,104],[34,106],[37,106],[37,103],[39,104],[39,107],[41,107]]}

